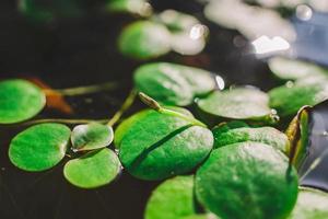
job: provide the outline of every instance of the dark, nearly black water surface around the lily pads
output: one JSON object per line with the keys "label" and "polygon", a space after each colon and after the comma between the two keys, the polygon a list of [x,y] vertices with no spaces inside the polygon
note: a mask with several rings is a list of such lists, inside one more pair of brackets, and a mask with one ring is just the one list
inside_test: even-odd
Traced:
{"label": "dark, nearly black water surface around the lily pads", "polygon": [[[95,9],[102,5],[96,2]],[[227,84],[251,84],[268,90],[277,85],[265,62],[250,53],[237,32],[204,20],[202,5],[185,0],[153,1],[156,10],[176,9],[196,15],[210,28],[209,44],[197,56],[168,54],[159,60],[197,66],[220,73]],[[116,50],[119,31],[136,20],[109,15],[92,8],[79,19],[33,24],[17,13],[16,2],[0,1],[0,79],[37,77],[51,88],[70,88],[114,81],[118,89],[95,95],[68,97],[73,115],[45,110],[38,117],[107,118],[132,88],[131,74],[141,62]],[[239,43],[234,45],[233,42]],[[242,43],[241,43],[242,42]],[[128,112],[142,107],[137,101]],[[1,219],[139,219],[145,201],[160,182],[136,180],[127,173],[113,184],[93,191],[71,186],[62,176],[62,162],[43,173],[27,173],[8,159],[10,139],[21,128],[0,128]]]}

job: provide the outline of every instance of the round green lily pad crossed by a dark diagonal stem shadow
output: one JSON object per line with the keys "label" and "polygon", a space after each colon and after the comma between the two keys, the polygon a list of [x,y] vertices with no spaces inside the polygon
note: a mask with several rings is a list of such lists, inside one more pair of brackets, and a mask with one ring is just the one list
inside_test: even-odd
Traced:
{"label": "round green lily pad crossed by a dark diagonal stem shadow", "polygon": [[117,147],[124,166],[136,177],[162,180],[187,173],[212,149],[212,132],[188,119],[153,110],[134,116],[142,119],[128,125]]}

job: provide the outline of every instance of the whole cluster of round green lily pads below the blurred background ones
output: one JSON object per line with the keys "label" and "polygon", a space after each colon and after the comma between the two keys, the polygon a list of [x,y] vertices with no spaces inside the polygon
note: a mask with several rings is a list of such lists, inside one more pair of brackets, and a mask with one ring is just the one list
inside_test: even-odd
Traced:
{"label": "whole cluster of round green lily pads below the blurred background ones", "polygon": [[[151,195],[147,219],[327,218],[327,194],[298,187],[296,171],[307,145],[306,112],[328,97],[327,72],[282,57],[269,67],[288,82],[265,93],[253,87],[221,90],[215,76],[194,67],[144,64],[133,81],[149,108],[115,131],[113,119],[72,130],[60,123],[33,125],[12,139],[9,158],[37,172],[68,157],[63,175],[81,188],[109,184],[121,170],[144,181],[168,178]],[[25,122],[45,104],[46,93],[26,80],[0,82],[2,125]],[[272,127],[279,116],[294,115],[286,135]]]}

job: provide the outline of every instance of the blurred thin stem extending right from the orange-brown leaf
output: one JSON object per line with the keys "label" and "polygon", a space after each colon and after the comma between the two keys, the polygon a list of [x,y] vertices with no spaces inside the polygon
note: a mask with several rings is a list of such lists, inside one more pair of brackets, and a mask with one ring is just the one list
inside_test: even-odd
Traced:
{"label": "blurred thin stem extending right from the orange-brown leaf", "polygon": [[77,87],[77,88],[69,88],[69,89],[54,89],[54,90],[45,89],[44,92],[48,95],[51,95],[51,93],[59,93],[66,96],[73,96],[73,95],[84,95],[90,93],[97,93],[101,91],[113,90],[116,89],[117,87],[118,87],[117,82],[107,82],[102,84]]}

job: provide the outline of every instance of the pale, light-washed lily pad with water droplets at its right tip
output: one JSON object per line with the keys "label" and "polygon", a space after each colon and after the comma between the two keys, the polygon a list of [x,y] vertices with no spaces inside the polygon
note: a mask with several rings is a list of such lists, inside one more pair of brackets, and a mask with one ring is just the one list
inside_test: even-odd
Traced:
{"label": "pale, light-washed lily pad with water droplets at its right tip", "polygon": [[213,119],[243,119],[249,122],[276,123],[277,116],[269,107],[266,93],[251,88],[236,88],[215,91],[197,102],[201,112]]}

